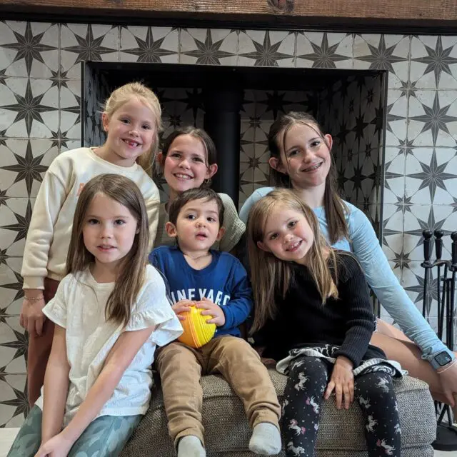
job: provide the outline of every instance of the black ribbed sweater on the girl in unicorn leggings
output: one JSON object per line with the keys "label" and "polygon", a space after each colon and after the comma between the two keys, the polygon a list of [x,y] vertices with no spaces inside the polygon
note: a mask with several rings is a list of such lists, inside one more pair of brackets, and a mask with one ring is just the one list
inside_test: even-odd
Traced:
{"label": "black ribbed sweater on the girl in unicorn leggings", "polygon": [[[368,356],[375,317],[366,278],[351,254],[339,251],[337,258],[338,298],[328,298],[325,304],[308,268],[294,264],[285,298],[276,297],[276,318],[254,336],[256,343],[266,346],[263,356],[281,360],[292,348],[322,344],[341,346],[336,356],[346,356],[354,368]],[[376,356],[383,356],[378,348],[371,348]]]}

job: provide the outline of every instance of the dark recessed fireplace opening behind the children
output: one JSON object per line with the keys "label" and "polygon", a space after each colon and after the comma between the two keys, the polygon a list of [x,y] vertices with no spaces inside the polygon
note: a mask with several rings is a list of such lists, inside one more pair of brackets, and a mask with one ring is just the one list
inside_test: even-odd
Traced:
{"label": "dark recessed fireplace opening behind the children", "polygon": [[[187,125],[210,134],[219,165],[212,186],[238,208],[270,184],[266,137],[276,117],[313,114],[333,136],[341,196],[361,208],[381,236],[386,71],[91,61],[81,71],[84,145],[104,142],[101,111],[111,91],[141,81],[161,102],[162,139]],[[166,199],[166,183],[156,181]]]}

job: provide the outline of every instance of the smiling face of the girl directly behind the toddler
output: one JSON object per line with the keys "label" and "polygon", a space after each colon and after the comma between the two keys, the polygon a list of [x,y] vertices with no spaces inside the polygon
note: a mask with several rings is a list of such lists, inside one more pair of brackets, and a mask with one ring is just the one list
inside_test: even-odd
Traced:
{"label": "smiling face of the girl directly behind the toddler", "polygon": [[193,135],[176,136],[166,157],[160,154],[159,161],[164,163],[164,177],[175,194],[200,187],[217,171],[216,164],[208,164],[203,142]]}

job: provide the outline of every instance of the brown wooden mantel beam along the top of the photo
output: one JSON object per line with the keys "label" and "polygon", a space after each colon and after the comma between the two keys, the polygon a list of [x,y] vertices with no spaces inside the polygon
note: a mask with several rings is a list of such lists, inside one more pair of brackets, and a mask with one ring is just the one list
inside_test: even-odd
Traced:
{"label": "brown wooden mantel beam along the top of the photo", "polygon": [[[0,0],[0,11],[106,19],[233,21],[240,24],[457,25],[457,0]],[[166,24],[164,24],[166,25]],[[454,33],[457,30],[454,29]]]}

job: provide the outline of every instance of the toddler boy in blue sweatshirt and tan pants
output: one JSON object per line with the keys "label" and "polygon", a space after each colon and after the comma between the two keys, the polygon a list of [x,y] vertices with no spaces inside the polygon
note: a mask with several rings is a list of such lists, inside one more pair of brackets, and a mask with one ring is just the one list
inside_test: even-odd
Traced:
{"label": "toddler boy in blue sweatshirt and tan pants", "polygon": [[169,282],[173,309],[182,321],[191,305],[216,324],[214,337],[195,349],[175,341],[156,357],[169,433],[178,457],[205,457],[200,377],[220,373],[241,398],[253,428],[249,449],[273,456],[281,451],[280,406],[256,351],[238,326],[252,306],[246,270],[237,258],[211,250],[224,236],[224,204],[211,189],[190,189],[174,199],[166,231],[177,247],[161,246],[149,256]]}

